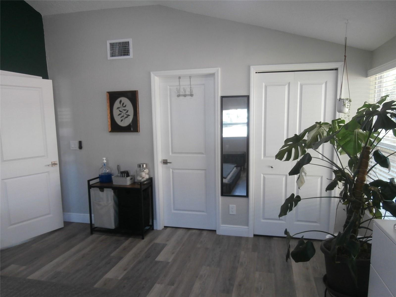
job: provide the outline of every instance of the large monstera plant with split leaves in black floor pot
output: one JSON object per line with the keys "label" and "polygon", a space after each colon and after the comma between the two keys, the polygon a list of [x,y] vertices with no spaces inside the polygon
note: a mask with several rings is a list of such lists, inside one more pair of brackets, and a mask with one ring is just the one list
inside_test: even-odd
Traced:
{"label": "large monstera plant with split leaves in black floor pot", "polygon": [[[289,175],[298,175],[297,185],[299,188],[303,187],[305,183],[305,167],[308,167],[308,164],[331,168],[334,173],[334,178],[327,185],[326,192],[335,188],[341,189],[339,196],[330,195],[328,197],[338,198],[339,203],[345,206],[346,221],[343,232],[339,232],[337,235],[320,230],[307,230],[305,232],[324,232],[333,236],[330,240],[322,242],[322,246],[327,250],[333,263],[344,263],[344,266],[340,266],[340,269],[348,270],[351,276],[351,280],[347,284],[351,287],[349,293],[348,290],[343,288],[338,290],[344,295],[352,296],[353,292],[357,292],[356,286],[358,286],[359,277],[367,277],[366,280],[360,280],[360,282],[364,281],[365,283],[360,286],[365,288],[363,288],[363,293],[356,293],[357,295],[353,296],[367,295],[368,284],[366,283],[368,283],[369,266],[367,269],[365,268],[367,276],[360,276],[359,270],[363,269],[360,269],[357,263],[358,259],[362,259],[362,254],[366,254],[368,259],[370,255],[372,230],[366,227],[367,223],[371,219],[396,216],[396,203],[394,202],[396,183],[394,178],[384,181],[373,179],[367,175],[375,166],[390,170],[389,156],[396,153],[384,155],[377,149],[379,142],[388,133],[393,133],[396,137],[396,101],[386,101],[387,99],[388,95],[381,97],[374,104],[366,102],[348,123],[340,118],[333,120],[331,123],[316,122],[299,135],[295,134],[293,137],[286,139],[284,145],[276,154],[278,160],[298,160]],[[332,156],[325,156],[320,152],[319,148],[325,143],[334,148],[336,159],[333,159]],[[316,154],[311,156],[310,152],[316,152]],[[346,155],[347,158],[340,158],[341,155]],[[375,164],[369,168],[371,158],[373,158]],[[313,159],[316,159],[315,164],[311,163]],[[341,162],[341,159],[344,162]],[[347,164],[345,159],[348,160]],[[287,215],[297,206],[304,207],[302,200],[323,198],[326,197],[300,197],[291,194],[280,207],[279,217]],[[381,209],[385,210],[385,215],[381,212]],[[369,219],[364,219],[365,213],[369,213]],[[370,236],[360,236],[359,231],[366,231]],[[304,232],[298,234],[300,233]],[[314,256],[315,247],[311,240],[305,240],[304,236],[301,237],[297,246],[290,251],[290,240],[297,234],[291,235],[286,229],[285,235],[287,241],[286,261],[290,256],[295,262],[309,261]],[[369,260],[367,263],[369,265]],[[327,261],[326,269],[327,274],[329,274]],[[340,275],[342,275],[341,272]],[[331,284],[331,286],[336,286],[337,282],[344,281],[330,281],[328,275],[327,278],[328,284]],[[337,292],[337,288],[335,291]]]}

